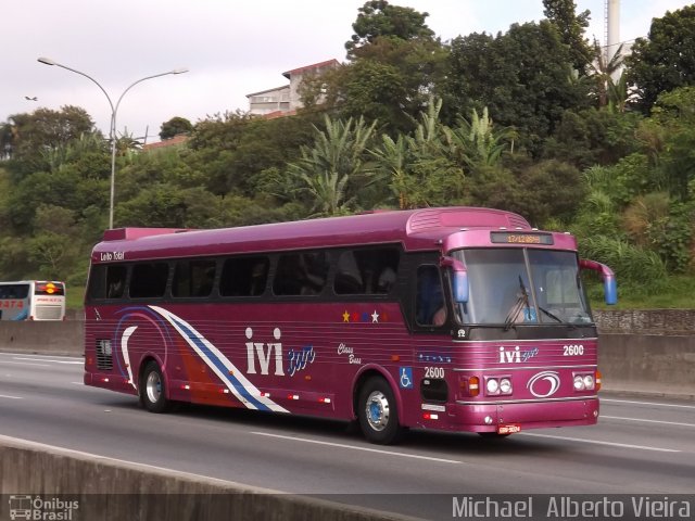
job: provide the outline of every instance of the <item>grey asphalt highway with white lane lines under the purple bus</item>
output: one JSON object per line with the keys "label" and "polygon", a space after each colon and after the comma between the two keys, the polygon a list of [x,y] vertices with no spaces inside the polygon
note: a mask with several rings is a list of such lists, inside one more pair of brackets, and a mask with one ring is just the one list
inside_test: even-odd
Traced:
{"label": "grey asphalt highway with white lane lines under the purple bus", "polygon": [[604,394],[596,427],[496,442],[410,431],[381,447],[345,422],[190,406],[153,415],[81,378],[81,358],[0,353],[0,434],[427,519],[451,519],[452,496],[471,494],[695,491],[695,402]]}

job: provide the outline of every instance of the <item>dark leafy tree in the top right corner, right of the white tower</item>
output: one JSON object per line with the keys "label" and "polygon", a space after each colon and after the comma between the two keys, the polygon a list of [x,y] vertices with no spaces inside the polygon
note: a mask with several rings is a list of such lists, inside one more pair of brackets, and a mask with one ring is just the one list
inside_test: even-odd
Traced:
{"label": "dark leafy tree in the top right corner, right of the white tower", "polygon": [[695,5],[653,18],[647,38],[637,38],[626,58],[628,79],[648,114],[658,96],[695,84]]}

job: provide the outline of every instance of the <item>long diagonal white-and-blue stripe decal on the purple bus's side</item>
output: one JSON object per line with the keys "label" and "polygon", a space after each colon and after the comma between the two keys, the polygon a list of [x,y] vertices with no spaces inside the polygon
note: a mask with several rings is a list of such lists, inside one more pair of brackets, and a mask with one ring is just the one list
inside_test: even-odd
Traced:
{"label": "long diagonal white-and-blue stripe decal on the purple bus's side", "polygon": [[[162,315],[173,327],[176,329],[179,334],[186,340],[188,345],[190,345],[198,356],[210,367],[215,374],[227,385],[227,389],[249,409],[263,409],[268,408],[276,412],[289,412],[286,408],[273,402],[267,396],[262,396],[261,391],[253,384],[251,381],[243,376],[243,373],[227,358],[222,352],[210,343],[207,339],[205,339],[200,332],[198,332],[190,323],[186,320],[182,320],[180,317],[177,317],[173,313],[167,312],[166,309],[157,306],[150,306],[153,310]],[[190,334],[186,332],[184,329],[188,329],[191,331],[195,339],[191,339]],[[219,361],[224,368],[227,370],[227,373],[223,372],[215,360],[211,359],[210,356],[205,354],[205,352],[198,345],[200,342],[213,357]],[[233,379],[230,378],[233,376]],[[237,380],[236,383],[233,380]],[[251,399],[249,399],[245,395],[250,395]],[[260,403],[261,407],[255,405],[253,402]]]}

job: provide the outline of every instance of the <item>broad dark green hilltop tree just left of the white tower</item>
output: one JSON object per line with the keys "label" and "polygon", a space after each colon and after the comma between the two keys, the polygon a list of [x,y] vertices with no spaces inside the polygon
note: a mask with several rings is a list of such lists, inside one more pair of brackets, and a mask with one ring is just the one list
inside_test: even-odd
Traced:
{"label": "broad dark green hilltop tree just left of the white tower", "polygon": [[589,86],[577,80],[571,63],[569,48],[547,21],[514,24],[494,39],[458,38],[447,76],[462,79],[450,80],[444,97],[468,113],[488,106],[494,120],[514,128],[520,145],[538,157],[565,111],[591,104]]}

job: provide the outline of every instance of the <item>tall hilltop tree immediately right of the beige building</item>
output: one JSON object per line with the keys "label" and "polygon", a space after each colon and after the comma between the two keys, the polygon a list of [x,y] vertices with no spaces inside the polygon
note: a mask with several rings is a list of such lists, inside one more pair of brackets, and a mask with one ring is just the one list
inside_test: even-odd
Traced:
{"label": "tall hilltop tree immediately right of the beige building", "polygon": [[413,120],[444,77],[446,50],[425,24],[427,13],[374,0],[359,9],[346,43],[350,63],[306,82],[305,105],[343,119],[378,119],[388,132],[410,131]]}

